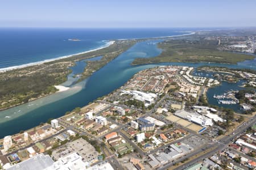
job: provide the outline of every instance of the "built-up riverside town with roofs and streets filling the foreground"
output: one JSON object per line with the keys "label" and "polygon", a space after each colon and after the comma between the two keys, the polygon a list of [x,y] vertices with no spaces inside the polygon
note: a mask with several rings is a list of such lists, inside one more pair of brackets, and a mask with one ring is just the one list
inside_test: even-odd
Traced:
{"label": "built-up riverside town with roofs and streets filling the foreground", "polygon": [[[224,48],[224,47],[223,47]],[[250,47],[252,48],[252,47]],[[254,48],[254,47],[253,47]],[[226,49],[229,50],[229,49]],[[247,49],[251,50],[251,49]],[[158,66],[89,105],[0,140],[3,169],[254,169],[255,91],[209,88],[256,74],[221,67]]]}

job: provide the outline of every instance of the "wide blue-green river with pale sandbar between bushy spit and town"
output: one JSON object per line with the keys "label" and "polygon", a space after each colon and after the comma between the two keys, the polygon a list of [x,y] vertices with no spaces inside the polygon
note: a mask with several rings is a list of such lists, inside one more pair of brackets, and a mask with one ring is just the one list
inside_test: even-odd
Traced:
{"label": "wide blue-green river with pale sandbar between bushy spit and town", "polygon": [[[113,90],[121,87],[138,71],[159,65],[180,65],[198,67],[202,65],[226,66],[232,68],[250,68],[256,70],[256,62],[238,65],[217,64],[217,63],[156,63],[148,65],[131,66],[131,62],[138,57],[154,57],[161,53],[156,43],[161,40],[139,42],[119,55],[106,66],[92,74],[88,79],[73,84],[69,84],[71,90],[60,92],[51,96],[43,97],[28,104],[19,105],[6,111],[0,112],[0,138],[5,135],[18,133],[46,122],[48,118],[63,116],[67,111],[75,107],[82,107],[97,97],[104,96]],[[74,73],[79,74],[84,69],[84,61],[72,67]],[[73,73],[73,74],[74,74]],[[32,106],[31,106],[32,105]],[[14,113],[15,112],[15,113]],[[11,116],[11,118],[5,118]]]}

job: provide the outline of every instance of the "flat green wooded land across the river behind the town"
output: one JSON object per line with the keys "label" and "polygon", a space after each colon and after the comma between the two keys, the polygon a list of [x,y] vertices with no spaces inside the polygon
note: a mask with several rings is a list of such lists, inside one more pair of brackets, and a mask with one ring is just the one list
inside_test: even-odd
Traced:
{"label": "flat green wooded land across the river behind the town", "polygon": [[217,49],[218,41],[205,40],[204,37],[199,37],[198,40],[167,40],[160,42],[158,47],[163,50],[159,56],[136,58],[133,61],[133,65],[159,62],[217,62],[235,64],[245,59],[255,58],[247,54],[221,52]]}

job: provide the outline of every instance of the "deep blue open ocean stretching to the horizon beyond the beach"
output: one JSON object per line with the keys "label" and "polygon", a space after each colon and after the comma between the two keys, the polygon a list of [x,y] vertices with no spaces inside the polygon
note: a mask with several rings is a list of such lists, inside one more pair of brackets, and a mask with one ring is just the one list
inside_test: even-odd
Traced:
{"label": "deep blue open ocean stretching to the horizon beyond the beach", "polygon": [[175,36],[182,35],[185,33],[183,31],[187,30],[0,28],[0,69],[85,52],[104,46],[113,39]]}

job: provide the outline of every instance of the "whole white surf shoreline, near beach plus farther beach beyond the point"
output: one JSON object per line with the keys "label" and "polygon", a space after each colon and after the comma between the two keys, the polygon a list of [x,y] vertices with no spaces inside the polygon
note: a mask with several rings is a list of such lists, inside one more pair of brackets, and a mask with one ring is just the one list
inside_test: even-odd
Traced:
{"label": "whole white surf shoreline, near beach plus farther beach beyond the point", "polygon": [[[185,34],[182,34],[182,35],[163,36],[163,37],[149,37],[149,38],[145,37],[145,38],[141,38],[141,39],[118,39],[118,41],[122,41],[122,40],[166,39],[166,38],[170,38],[170,37],[189,36],[189,35],[193,35],[195,33],[196,32],[190,32],[190,33],[185,33]],[[102,41],[108,41],[108,40],[102,40]],[[64,59],[64,58],[74,57],[74,56],[81,55],[81,54],[86,54],[86,53],[89,53],[89,52],[94,52],[94,51],[97,51],[97,50],[100,50],[100,49],[107,48],[108,46],[110,46],[114,43],[115,43],[115,41],[111,40],[111,41],[107,42],[106,45],[104,45],[104,46],[100,46],[99,48],[92,49],[92,50],[87,50],[85,52],[75,53],[75,54],[71,54],[71,55],[68,55],[68,56],[61,56],[61,57],[52,58],[52,59],[45,59],[43,61],[31,62],[31,63],[26,63],[26,64],[18,65],[18,66],[10,66],[10,67],[0,68],[0,73],[4,73],[6,71],[11,71],[11,70],[16,70],[16,69],[23,69],[23,68],[26,68],[26,67],[40,65],[40,64],[43,64],[43,63],[47,63],[47,62],[57,61],[59,59]]]}

